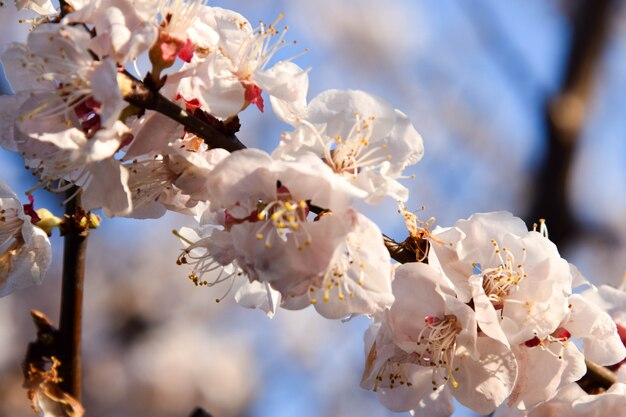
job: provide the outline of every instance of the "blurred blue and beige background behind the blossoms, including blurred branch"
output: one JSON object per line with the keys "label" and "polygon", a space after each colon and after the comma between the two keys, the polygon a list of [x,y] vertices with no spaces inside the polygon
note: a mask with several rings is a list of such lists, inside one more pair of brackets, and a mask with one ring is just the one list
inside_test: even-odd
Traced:
{"label": "blurred blue and beige background behind the blossoms, including blurred branch", "polygon": [[[6,3],[6,1],[5,1]],[[253,26],[285,13],[281,58],[311,67],[309,99],[330,88],[385,97],[424,137],[410,170],[408,206],[452,225],[474,212],[509,210],[550,237],[596,283],[626,271],[626,4],[622,0],[211,1]],[[12,7],[0,39],[23,40]],[[0,77],[1,79],[1,77]],[[9,94],[6,82],[0,84]],[[250,107],[239,138],[272,150],[285,125]],[[34,184],[19,156],[0,151],[0,178],[22,194]],[[62,213],[59,199],[35,193]],[[398,240],[395,203],[363,208]],[[175,265],[171,229],[182,216],[104,219],[88,246],[84,405],[89,416],[214,417],[395,415],[359,388],[366,319],[313,311],[268,319],[196,288]],[[34,339],[30,309],[54,321],[62,242],[42,286],[0,299],[0,417],[31,415],[19,363]],[[216,293],[217,291],[217,293]],[[471,416],[457,407],[455,416]]]}

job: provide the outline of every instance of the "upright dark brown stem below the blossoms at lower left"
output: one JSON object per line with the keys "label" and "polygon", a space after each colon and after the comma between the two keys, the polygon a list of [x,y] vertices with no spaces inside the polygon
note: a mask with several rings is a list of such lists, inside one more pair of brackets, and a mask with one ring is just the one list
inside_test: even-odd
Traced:
{"label": "upright dark brown stem below the blossoms at lower left", "polygon": [[[68,196],[76,193],[73,187]],[[80,401],[81,394],[81,329],[83,316],[83,281],[85,277],[85,253],[89,228],[80,225],[83,214],[80,193],[65,205],[62,227],[63,284],[61,291],[61,318],[59,319],[58,355],[61,361],[59,373],[61,388]]]}

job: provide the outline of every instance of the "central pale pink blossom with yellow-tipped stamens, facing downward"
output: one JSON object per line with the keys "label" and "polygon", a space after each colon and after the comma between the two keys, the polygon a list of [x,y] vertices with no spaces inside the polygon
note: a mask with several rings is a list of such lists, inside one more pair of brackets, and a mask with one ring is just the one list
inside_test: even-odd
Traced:
{"label": "central pale pink blossom with yellow-tipped stamens, facing downward", "polygon": [[[350,199],[359,194],[317,158],[290,163],[253,149],[224,159],[207,186],[211,209],[228,217],[239,266],[293,296],[328,269],[350,231]],[[311,205],[331,212],[310,221]]]}

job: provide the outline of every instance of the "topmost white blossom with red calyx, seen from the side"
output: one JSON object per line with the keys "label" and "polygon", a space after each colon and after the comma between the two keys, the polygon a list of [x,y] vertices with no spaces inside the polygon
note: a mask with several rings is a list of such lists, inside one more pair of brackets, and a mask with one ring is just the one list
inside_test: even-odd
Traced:
{"label": "topmost white blossom with red calyx, seen from the side", "polygon": [[205,48],[201,48],[204,53],[198,51],[198,62],[170,77],[170,81],[178,81],[178,93],[185,99],[197,99],[204,111],[228,119],[249,104],[263,111],[262,91],[285,102],[306,97],[307,71],[291,60],[270,65],[286,45],[286,30],[277,29],[278,20],[252,29],[239,13],[214,7],[197,22],[203,29],[211,29],[211,38],[205,39]]}

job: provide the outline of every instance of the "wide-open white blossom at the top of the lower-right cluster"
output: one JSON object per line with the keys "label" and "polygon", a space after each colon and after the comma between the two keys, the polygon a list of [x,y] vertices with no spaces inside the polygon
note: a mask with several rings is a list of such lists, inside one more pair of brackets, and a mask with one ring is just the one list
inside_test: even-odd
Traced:
{"label": "wide-open white blossom at the top of the lower-right cluster", "polygon": [[521,219],[478,213],[432,236],[433,262],[452,280],[459,299],[473,302],[487,335],[511,345],[542,339],[568,314],[570,266]]}

